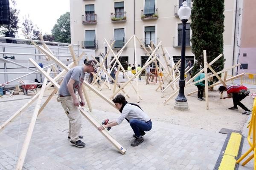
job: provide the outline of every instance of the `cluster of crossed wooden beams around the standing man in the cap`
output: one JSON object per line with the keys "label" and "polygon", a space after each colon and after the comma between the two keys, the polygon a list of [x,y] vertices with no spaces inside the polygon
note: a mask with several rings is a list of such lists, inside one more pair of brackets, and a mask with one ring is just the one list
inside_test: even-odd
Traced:
{"label": "cluster of crossed wooden beams around the standing man in the cap", "polygon": [[[34,44],[35,46],[37,46],[36,44]],[[4,130],[6,128],[6,126],[8,124],[10,124],[18,115],[20,115],[20,113],[24,112],[34,101],[36,101],[36,99],[38,99],[37,101],[37,104],[35,106],[35,110],[34,110],[34,113],[32,115],[32,119],[30,121],[30,124],[29,124],[29,128],[28,128],[28,131],[26,133],[26,137],[25,137],[25,140],[23,142],[23,146],[22,146],[22,149],[21,149],[21,152],[20,152],[20,156],[18,158],[18,161],[17,161],[17,166],[16,166],[16,170],[21,170],[22,167],[23,167],[23,163],[24,163],[24,160],[25,160],[25,157],[26,157],[26,153],[27,153],[27,150],[28,150],[28,147],[29,147],[29,143],[30,143],[30,140],[31,140],[31,137],[32,137],[32,133],[33,133],[33,129],[35,127],[35,122],[36,122],[36,119],[38,117],[38,115],[42,112],[42,110],[44,109],[44,107],[48,104],[48,102],[50,101],[50,99],[53,97],[53,95],[58,91],[60,85],[56,82],[58,81],[58,79],[60,79],[61,77],[63,77],[65,75],[65,73],[70,69],[72,68],[73,66],[76,66],[78,65],[78,62],[79,60],[81,60],[82,56],[84,55],[84,53],[82,55],[79,56],[79,58],[76,58],[75,56],[75,53],[73,51],[73,47],[70,46],[70,52],[71,52],[71,55],[72,55],[72,58],[73,58],[73,62],[70,63],[68,66],[66,66],[64,63],[62,63],[61,61],[59,61],[54,55],[52,55],[52,52],[49,52],[49,48],[48,49],[44,49],[43,47],[41,46],[37,46],[37,48],[40,49],[40,51],[42,53],[44,53],[45,55],[47,55],[47,57],[49,59],[51,59],[52,61],[54,61],[55,63],[59,64],[64,70],[62,72],[60,72],[57,76],[55,76],[55,78],[52,78],[49,76],[49,69],[47,72],[44,71],[44,69],[42,69],[38,63],[36,63],[32,58],[29,58],[29,61],[35,65],[35,67],[38,69],[38,70],[33,70],[33,71],[36,71],[36,72],[41,72],[44,76],[45,76],[45,79],[44,79],[44,83],[43,83],[43,86],[42,86],[42,89],[40,92],[38,92],[31,100],[29,100],[26,104],[23,105],[23,107],[21,107],[17,112],[15,112],[14,115],[12,115],[7,121],[5,121],[1,126],[0,126],[0,131]],[[20,65],[22,66],[22,65]],[[47,84],[47,80],[50,81],[50,83]],[[51,95],[47,98],[47,100],[44,102],[44,104],[41,106],[41,102],[42,102],[42,97],[44,95],[44,91],[46,88],[48,88],[49,86],[51,85],[54,85],[55,89],[52,91]],[[83,82],[83,92],[84,92],[84,97],[87,101],[87,105],[88,107],[90,106],[90,100],[88,98],[88,95],[87,95],[87,92],[86,92],[86,89],[85,89],[85,86],[87,88],[89,88],[90,90],[92,90],[94,93],[96,93],[96,95],[99,95],[99,97],[101,97],[103,100],[107,101],[112,107],[115,107],[115,105],[108,99],[106,98],[101,92],[99,92],[97,89],[95,89],[93,86],[91,86],[90,84],[88,84],[86,81]],[[95,118],[93,118],[92,115],[90,115],[89,112],[86,112],[84,111],[83,108],[79,107],[79,110],[81,112],[82,115],[84,115],[85,118],[87,118],[87,120],[93,124],[94,127],[99,127],[100,123],[98,121],[96,121]],[[90,107],[89,107],[89,110],[90,110]],[[120,145],[109,133],[107,130],[102,130],[102,131],[99,131],[100,133],[102,133],[102,135],[105,136],[105,138],[108,139],[108,141],[111,142],[111,144],[113,144],[114,147],[116,147],[116,149],[124,154],[125,153],[125,148],[122,147],[122,145]]]}

